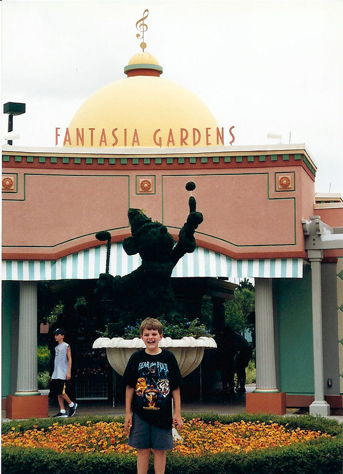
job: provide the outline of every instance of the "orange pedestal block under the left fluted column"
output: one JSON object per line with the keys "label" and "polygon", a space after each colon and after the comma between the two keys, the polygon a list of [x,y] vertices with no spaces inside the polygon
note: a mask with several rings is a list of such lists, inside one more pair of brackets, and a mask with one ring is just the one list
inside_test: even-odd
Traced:
{"label": "orange pedestal block under the left fluted column", "polygon": [[6,397],[6,418],[47,418],[49,416],[49,398],[47,395],[27,395]]}

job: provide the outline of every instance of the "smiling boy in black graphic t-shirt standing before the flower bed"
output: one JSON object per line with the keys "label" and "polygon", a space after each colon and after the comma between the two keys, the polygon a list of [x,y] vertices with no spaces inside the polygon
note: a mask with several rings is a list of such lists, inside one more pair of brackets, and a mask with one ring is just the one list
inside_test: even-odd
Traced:
{"label": "smiling boy in black graphic t-shirt standing before the flower bed", "polygon": [[[164,474],[166,451],[173,448],[172,425],[181,429],[181,373],[174,355],[158,346],[162,324],[153,318],[140,326],[145,349],[135,352],[126,367],[126,416],[129,446],[137,451],[137,474],[147,474],[152,449],[155,474]],[[171,399],[174,401],[172,416]],[[133,412],[133,413],[131,413]],[[130,429],[131,427],[131,429]]]}

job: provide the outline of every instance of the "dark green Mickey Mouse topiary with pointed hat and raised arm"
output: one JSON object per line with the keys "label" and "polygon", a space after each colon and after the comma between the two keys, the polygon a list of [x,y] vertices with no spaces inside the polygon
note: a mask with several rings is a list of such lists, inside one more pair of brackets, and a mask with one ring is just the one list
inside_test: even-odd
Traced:
{"label": "dark green Mickey Mouse topiary with pointed hat and raised arm", "polygon": [[[186,189],[194,190],[195,184],[187,183]],[[190,213],[180,229],[179,240],[175,246],[166,226],[157,221],[152,222],[140,209],[129,209],[132,236],[124,239],[123,248],[128,255],[139,253],[142,264],[122,277],[102,273],[97,282],[97,293],[100,297],[114,300],[117,308],[119,321],[112,322],[117,325],[115,332],[118,331],[118,323],[122,326],[147,316],[163,316],[168,320],[169,316],[177,312],[171,288],[171,273],[180,258],[195,250],[194,232],[203,222],[202,213],[196,211],[193,196],[189,198],[189,208]],[[110,326],[111,324],[109,328]],[[108,332],[109,336],[118,335],[111,334],[111,329]]]}

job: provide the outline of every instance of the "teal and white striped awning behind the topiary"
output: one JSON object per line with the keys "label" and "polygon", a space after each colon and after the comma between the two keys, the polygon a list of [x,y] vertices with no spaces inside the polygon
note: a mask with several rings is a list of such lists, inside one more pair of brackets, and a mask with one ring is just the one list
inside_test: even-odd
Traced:
{"label": "teal and white striped awning behind the topiary", "polygon": [[[141,264],[139,255],[127,255],[121,243],[111,245],[110,273],[127,275]],[[89,248],[58,260],[2,261],[2,280],[39,281],[96,279],[105,272],[106,245]],[[174,268],[173,277],[302,278],[298,258],[233,260],[196,247]]]}

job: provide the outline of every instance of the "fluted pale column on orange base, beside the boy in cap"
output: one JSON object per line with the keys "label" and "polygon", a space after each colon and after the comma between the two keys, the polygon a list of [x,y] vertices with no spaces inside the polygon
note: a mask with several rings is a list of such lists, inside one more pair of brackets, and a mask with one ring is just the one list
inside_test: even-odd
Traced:
{"label": "fluted pale column on orange base, beside the boy in cap", "polygon": [[37,382],[37,284],[19,286],[18,377],[15,395],[40,395]]}

